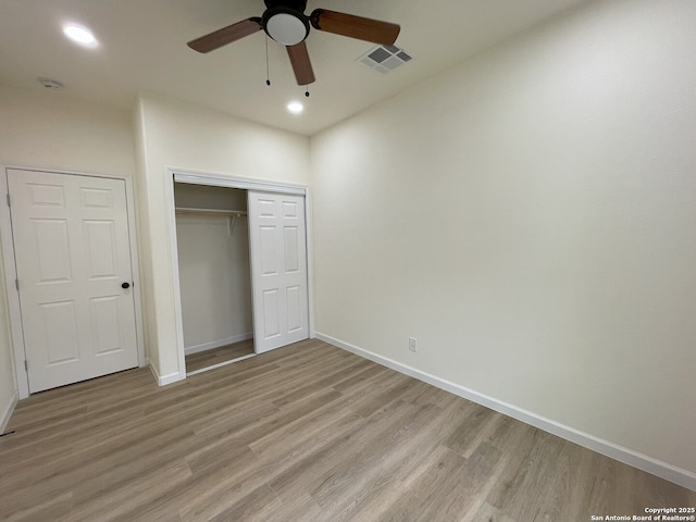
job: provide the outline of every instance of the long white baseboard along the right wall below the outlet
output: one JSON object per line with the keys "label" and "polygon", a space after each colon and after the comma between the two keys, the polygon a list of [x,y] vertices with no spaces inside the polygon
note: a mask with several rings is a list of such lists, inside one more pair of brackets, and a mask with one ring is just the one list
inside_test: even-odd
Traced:
{"label": "long white baseboard along the right wall below the outlet", "polygon": [[610,457],[614,460],[618,460],[619,462],[632,465],[634,468],[637,468],[638,470],[643,470],[647,473],[659,476],[660,478],[664,478],[666,481],[673,482],[674,484],[679,484],[680,486],[696,492],[696,473],[676,468],[675,465],[668,464],[667,462],[662,462],[661,460],[654,459],[652,457],[648,457],[632,449],[624,448],[608,440],[604,440],[588,433],[584,433],[573,427],[566,426],[556,421],[538,415],[532,411],[527,411],[518,408],[514,405],[510,405],[487,395],[480,394],[478,391],[474,391],[473,389],[469,389],[464,386],[460,386],[444,378],[436,377],[435,375],[422,372],[421,370],[408,366],[393,359],[373,353],[357,346],[350,345],[349,343],[344,343],[339,339],[335,339],[328,335],[316,332],[316,338],[344,350],[350,351],[357,356],[374,361],[384,366],[390,368],[391,370],[395,370],[399,373],[403,373],[411,377],[418,378],[419,381],[423,381],[424,383],[432,384],[433,386],[458,395],[459,397],[463,397],[464,399],[471,400],[472,402],[476,402],[478,405],[485,406],[486,408],[490,408],[492,410],[504,413],[508,417],[511,417],[512,419],[522,421],[525,424],[530,424],[534,427],[538,427],[539,430],[544,430],[545,432],[557,435],[587,449],[597,451],[598,453]]}

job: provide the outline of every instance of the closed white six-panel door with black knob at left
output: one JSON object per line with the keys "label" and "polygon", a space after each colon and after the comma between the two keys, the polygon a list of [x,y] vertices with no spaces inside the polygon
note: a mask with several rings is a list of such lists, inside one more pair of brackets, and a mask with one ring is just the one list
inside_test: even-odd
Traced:
{"label": "closed white six-panel door with black knob at left", "polygon": [[125,182],[8,170],[32,393],[138,365]]}

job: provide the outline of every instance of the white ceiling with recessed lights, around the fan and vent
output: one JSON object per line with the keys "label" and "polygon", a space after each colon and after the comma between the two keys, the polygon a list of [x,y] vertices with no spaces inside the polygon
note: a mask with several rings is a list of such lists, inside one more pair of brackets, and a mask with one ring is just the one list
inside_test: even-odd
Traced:
{"label": "white ceiling with recessed lights, around the fan and vent", "polygon": [[[316,83],[298,87],[285,49],[259,32],[200,54],[186,42],[249,16],[262,0],[0,0],[0,83],[50,96],[130,109],[138,91],[158,92],[275,127],[314,134],[586,0],[309,0],[315,8],[401,25],[397,46],[413,58],[388,75],[356,59],[371,44],[319,30],[307,39]],[[100,46],[67,41],[61,26],[92,29]],[[299,116],[291,99],[304,102]]]}

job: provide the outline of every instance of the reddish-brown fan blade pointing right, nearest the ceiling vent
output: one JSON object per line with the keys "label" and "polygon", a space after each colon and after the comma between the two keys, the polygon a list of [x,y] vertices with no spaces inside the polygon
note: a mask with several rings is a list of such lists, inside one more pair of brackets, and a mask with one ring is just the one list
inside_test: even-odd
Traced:
{"label": "reddish-brown fan blade pointing right, nearest the ceiling vent", "polygon": [[397,24],[363,18],[362,16],[338,13],[326,9],[314,10],[310,21],[315,29],[382,44],[383,46],[394,45],[399,36],[399,30],[401,30],[401,27]]}

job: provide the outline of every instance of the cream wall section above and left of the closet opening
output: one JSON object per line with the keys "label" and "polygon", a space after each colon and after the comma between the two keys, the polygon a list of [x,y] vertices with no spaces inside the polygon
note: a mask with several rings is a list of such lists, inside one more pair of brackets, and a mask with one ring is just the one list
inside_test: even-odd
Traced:
{"label": "cream wall section above and left of the closet opening", "polygon": [[140,96],[135,111],[138,150],[145,309],[150,360],[158,374],[181,374],[170,228],[166,222],[166,167],[307,185],[309,138],[250,123],[220,112]]}

